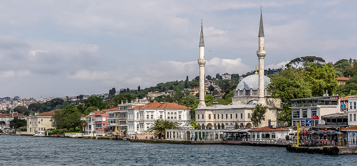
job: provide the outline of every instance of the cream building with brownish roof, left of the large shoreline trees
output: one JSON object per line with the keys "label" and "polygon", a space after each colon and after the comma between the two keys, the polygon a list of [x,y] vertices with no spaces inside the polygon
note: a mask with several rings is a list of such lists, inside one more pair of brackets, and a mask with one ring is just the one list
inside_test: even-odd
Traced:
{"label": "cream building with brownish roof, left of the large shoreline trees", "polygon": [[56,110],[44,112],[38,115],[27,117],[27,132],[35,134],[36,131],[44,131],[52,127],[52,117],[55,115]]}

